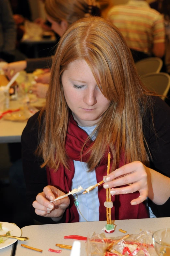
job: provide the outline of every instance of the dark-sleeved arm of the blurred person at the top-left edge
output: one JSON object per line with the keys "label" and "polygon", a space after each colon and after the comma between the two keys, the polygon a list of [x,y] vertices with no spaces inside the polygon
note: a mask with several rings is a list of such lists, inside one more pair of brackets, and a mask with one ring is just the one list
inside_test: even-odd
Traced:
{"label": "dark-sleeved arm of the blurred person at the top-left edge", "polygon": [[8,0],[0,1],[1,26],[3,30],[3,52],[10,52],[16,45],[16,25],[12,16],[12,10]]}

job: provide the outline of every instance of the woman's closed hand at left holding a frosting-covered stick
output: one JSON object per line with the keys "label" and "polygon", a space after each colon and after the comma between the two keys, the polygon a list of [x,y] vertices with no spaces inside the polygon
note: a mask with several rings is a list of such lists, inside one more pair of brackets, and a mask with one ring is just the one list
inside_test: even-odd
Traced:
{"label": "woman's closed hand at left holding a frosting-covered stick", "polygon": [[69,197],[65,197],[53,203],[50,201],[53,201],[56,197],[63,195],[65,195],[65,193],[54,186],[44,187],[43,192],[39,193],[36,197],[36,201],[33,202],[35,213],[37,215],[50,218],[58,218],[62,216],[65,209],[70,204]]}

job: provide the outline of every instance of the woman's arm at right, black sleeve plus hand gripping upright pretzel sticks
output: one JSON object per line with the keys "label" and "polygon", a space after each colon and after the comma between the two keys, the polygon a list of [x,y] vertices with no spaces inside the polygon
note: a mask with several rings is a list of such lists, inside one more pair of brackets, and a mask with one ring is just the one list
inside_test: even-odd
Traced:
{"label": "woman's arm at right, black sleeve plus hand gripping upright pretzel sticks", "polygon": [[[136,161],[124,165],[104,177],[104,181],[107,183],[103,187],[113,187],[112,195],[139,191],[140,197],[132,200],[132,205],[141,203],[146,200],[147,196],[153,204],[158,206],[167,205],[170,201],[170,108],[158,97],[156,97],[153,108],[154,127],[157,135],[155,135],[151,119],[148,112],[147,118],[144,120],[144,136],[152,155],[150,168]],[[131,185],[119,188],[126,184]],[[118,188],[116,188],[117,186]],[[164,212],[164,216],[167,214],[167,211]]]}

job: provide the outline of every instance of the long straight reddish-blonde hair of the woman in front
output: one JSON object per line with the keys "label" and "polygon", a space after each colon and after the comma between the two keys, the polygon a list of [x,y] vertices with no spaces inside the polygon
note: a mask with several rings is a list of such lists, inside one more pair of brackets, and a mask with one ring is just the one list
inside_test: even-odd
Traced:
{"label": "long straight reddish-blonde hair of the woman in front", "polygon": [[[97,137],[90,149],[87,165],[95,168],[108,150],[113,155],[112,171],[122,152],[125,163],[139,160],[148,163],[142,121],[151,105],[151,94],[141,83],[131,52],[118,29],[103,18],[88,17],[70,26],[61,38],[51,71],[46,106],[41,111],[38,154],[42,167],[69,168],[65,141],[69,107],[64,97],[62,73],[70,62],[84,59],[103,95],[111,102],[97,125]],[[99,84],[100,81],[100,84]]]}

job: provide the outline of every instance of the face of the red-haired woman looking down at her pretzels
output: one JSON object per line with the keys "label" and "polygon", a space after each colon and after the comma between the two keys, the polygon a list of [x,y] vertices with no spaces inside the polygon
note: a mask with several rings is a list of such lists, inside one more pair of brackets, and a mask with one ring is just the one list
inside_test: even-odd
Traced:
{"label": "face of the red-haired woman looking down at her pretzels", "polygon": [[85,60],[68,65],[62,74],[62,85],[66,102],[81,126],[95,125],[110,105]]}

